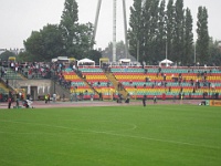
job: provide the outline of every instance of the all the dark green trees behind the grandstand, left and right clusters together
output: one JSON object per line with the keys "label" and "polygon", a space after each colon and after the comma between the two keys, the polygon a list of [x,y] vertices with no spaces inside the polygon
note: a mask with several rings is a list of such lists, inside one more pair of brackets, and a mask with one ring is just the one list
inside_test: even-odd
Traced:
{"label": "all the dark green trees behind the grandstand, left and right clusters together", "polygon": [[[178,65],[221,64],[220,42],[208,32],[208,10],[198,8],[197,41],[193,41],[193,20],[183,0],[134,0],[130,7],[127,38],[130,59],[158,64],[165,58]],[[99,62],[102,53],[112,60],[112,42],[102,52],[93,50],[94,27],[78,22],[75,0],[65,0],[59,24],[46,24],[32,31],[23,41],[25,51],[20,61],[51,61],[56,56],[83,58]],[[117,43],[117,59],[125,58],[125,43]],[[9,54],[6,52],[6,54]],[[1,54],[4,56],[4,54]]]}

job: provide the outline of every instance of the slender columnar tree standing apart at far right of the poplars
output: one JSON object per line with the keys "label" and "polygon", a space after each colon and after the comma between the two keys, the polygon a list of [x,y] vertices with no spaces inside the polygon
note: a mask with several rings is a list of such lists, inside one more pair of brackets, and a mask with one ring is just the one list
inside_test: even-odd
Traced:
{"label": "slender columnar tree standing apart at far right of the poplars", "polygon": [[209,60],[209,31],[208,10],[206,7],[198,8],[197,27],[197,61],[200,64],[207,64]]}

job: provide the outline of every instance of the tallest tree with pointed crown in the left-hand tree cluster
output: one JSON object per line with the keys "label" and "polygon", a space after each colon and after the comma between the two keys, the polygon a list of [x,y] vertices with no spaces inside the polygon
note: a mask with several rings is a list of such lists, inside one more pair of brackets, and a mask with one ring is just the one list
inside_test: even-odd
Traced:
{"label": "tallest tree with pointed crown in the left-hand tree cluster", "polygon": [[94,44],[92,23],[78,23],[78,6],[75,0],[65,0],[60,28],[65,49],[65,55],[75,59],[87,56]]}

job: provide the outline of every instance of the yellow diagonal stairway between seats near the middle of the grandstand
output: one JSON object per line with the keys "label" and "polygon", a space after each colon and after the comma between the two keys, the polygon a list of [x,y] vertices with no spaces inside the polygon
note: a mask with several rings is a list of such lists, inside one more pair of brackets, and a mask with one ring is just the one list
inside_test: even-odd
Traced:
{"label": "yellow diagonal stairway between seats near the middle of the grandstand", "polygon": [[105,75],[107,76],[107,79],[112,82],[113,86],[115,87],[115,90],[118,91],[118,93],[120,93],[123,95],[123,98],[127,98],[128,92],[124,89],[118,90],[118,81],[117,79],[114,76],[114,74],[112,72],[105,72]]}

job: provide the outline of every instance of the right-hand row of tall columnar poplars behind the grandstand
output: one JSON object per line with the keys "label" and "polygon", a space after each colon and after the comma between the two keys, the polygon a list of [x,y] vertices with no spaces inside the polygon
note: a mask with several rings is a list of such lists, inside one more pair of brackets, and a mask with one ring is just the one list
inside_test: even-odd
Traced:
{"label": "right-hand row of tall columnar poplars behind the grandstand", "polygon": [[[134,0],[128,30],[129,52],[140,62],[157,64],[165,58],[178,65],[220,64],[219,42],[208,32],[208,10],[198,8],[197,41],[193,20],[183,0]],[[218,61],[219,60],[219,61]]]}

